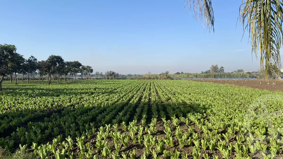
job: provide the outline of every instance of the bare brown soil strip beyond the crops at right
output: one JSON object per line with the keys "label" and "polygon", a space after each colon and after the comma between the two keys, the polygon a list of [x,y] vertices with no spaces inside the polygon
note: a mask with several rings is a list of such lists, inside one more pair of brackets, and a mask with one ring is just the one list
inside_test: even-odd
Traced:
{"label": "bare brown soil strip beyond the crops at right", "polygon": [[[187,79],[199,82],[212,82],[218,84],[229,84],[253,89],[268,91],[283,91],[283,80],[218,80],[218,79]],[[269,83],[269,84],[268,84]],[[275,84],[273,84],[275,83]]]}

